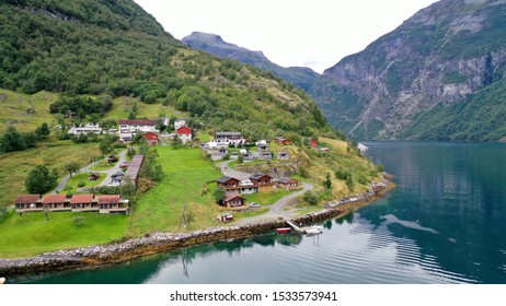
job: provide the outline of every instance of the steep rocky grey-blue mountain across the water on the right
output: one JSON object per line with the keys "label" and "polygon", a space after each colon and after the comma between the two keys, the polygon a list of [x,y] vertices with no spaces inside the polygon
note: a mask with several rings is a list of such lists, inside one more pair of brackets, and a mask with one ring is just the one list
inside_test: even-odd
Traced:
{"label": "steep rocky grey-blue mountain across the water on the right", "polygon": [[505,33],[505,0],[440,0],[325,70],[310,94],[354,138],[499,140]]}

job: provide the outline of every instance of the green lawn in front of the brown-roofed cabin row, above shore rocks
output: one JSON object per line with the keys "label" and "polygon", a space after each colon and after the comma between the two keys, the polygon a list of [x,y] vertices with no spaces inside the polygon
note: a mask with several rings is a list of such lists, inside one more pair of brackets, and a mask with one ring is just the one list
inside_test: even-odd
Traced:
{"label": "green lawn in front of the brown-roofed cabin row, above shore rocks", "polygon": [[[129,216],[51,212],[20,216],[11,211],[0,222],[0,258],[20,258],[50,250],[106,244],[125,235]],[[76,224],[82,217],[82,225]]]}

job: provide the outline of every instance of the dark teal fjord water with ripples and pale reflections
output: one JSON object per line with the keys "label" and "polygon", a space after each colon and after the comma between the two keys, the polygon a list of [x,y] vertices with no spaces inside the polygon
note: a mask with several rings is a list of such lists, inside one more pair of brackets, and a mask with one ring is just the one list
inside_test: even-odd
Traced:
{"label": "dark teal fjord water with ripples and pale reflections", "polygon": [[506,283],[506,144],[366,142],[398,187],[325,222],[25,283]]}

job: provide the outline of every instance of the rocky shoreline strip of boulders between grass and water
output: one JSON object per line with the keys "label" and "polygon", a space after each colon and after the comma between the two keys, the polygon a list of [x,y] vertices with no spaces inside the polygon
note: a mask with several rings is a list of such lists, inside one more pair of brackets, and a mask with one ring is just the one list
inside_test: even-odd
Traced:
{"label": "rocky shoreline strip of boulders between grass and water", "polygon": [[[391,180],[384,179],[381,183],[373,184],[368,192],[329,202],[325,204],[324,210],[307,214],[296,221],[309,224],[345,215],[357,208],[380,199],[393,187]],[[117,244],[50,251],[30,258],[0,259],[0,275],[9,278],[12,275],[117,263],[199,244],[244,238],[285,226],[287,224],[284,220],[274,220],[240,226],[210,227],[189,233],[156,233]]]}

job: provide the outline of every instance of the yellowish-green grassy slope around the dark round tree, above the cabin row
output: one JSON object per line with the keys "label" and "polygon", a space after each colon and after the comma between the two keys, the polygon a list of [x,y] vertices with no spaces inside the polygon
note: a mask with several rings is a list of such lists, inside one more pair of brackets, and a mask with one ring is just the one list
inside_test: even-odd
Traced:
{"label": "yellowish-green grassy slope around the dark round tree, above the cabin row", "polygon": [[76,162],[84,166],[93,154],[99,155],[99,144],[74,144],[71,141],[58,141],[37,149],[0,154],[0,204],[10,205],[18,195],[26,193],[24,180],[28,172],[36,165],[46,165],[49,169],[57,168],[60,178],[67,174],[64,165]]}

